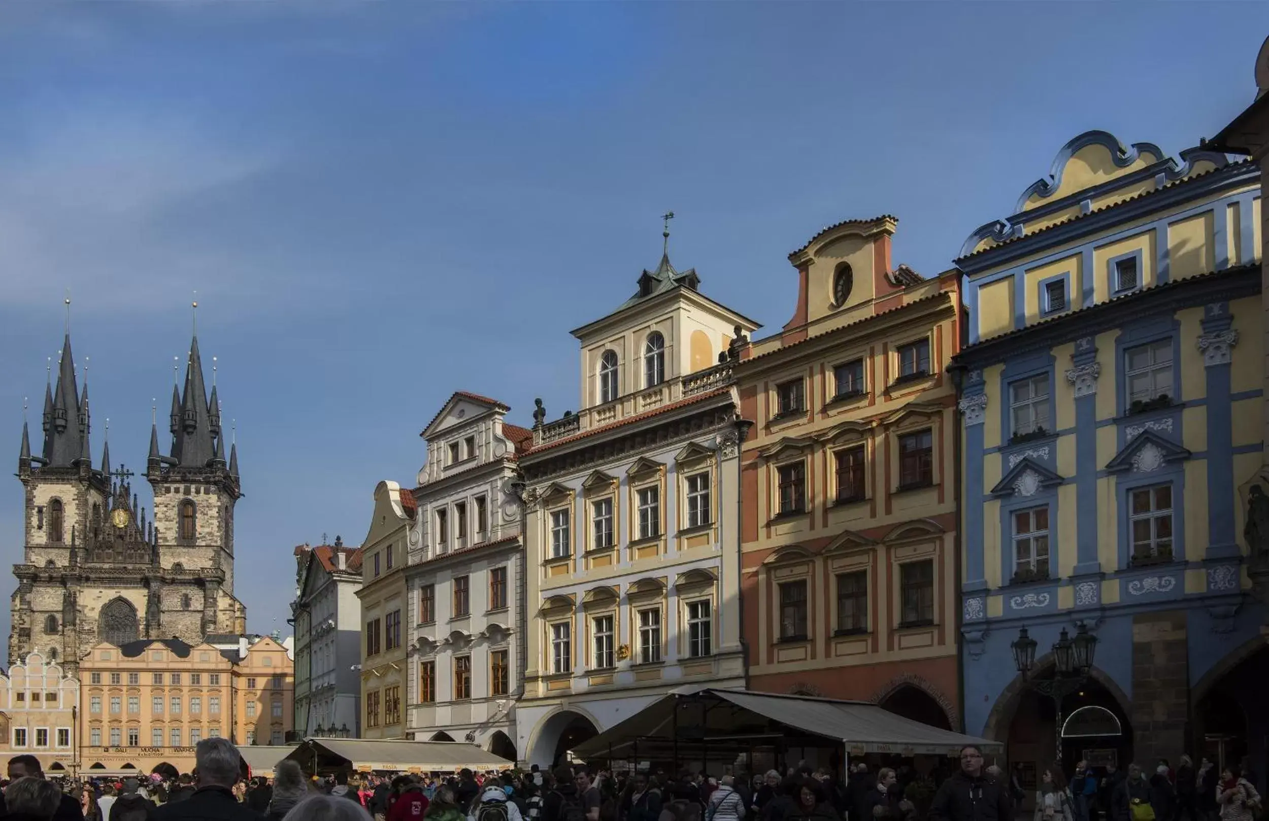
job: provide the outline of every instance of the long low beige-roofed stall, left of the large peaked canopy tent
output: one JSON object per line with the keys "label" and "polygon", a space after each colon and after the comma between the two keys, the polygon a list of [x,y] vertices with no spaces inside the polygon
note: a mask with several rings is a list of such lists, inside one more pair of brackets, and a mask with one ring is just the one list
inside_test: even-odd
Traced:
{"label": "long low beige-roofed stall, left of the large peaked canopy tent", "polygon": [[515,766],[475,744],[462,741],[379,741],[374,739],[305,739],[286,758],[306,773],[453,773],[506,770]]}

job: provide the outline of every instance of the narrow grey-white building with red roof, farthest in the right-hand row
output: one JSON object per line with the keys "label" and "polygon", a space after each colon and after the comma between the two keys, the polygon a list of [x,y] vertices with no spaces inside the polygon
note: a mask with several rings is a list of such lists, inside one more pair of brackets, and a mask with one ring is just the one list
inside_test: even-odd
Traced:
{"label": "narrow grey-white building with red roof, farthest in the right-hand row", "polygon": [[296,735],[317,728],[360,733],[362,551],[335,544],[296,548]]}

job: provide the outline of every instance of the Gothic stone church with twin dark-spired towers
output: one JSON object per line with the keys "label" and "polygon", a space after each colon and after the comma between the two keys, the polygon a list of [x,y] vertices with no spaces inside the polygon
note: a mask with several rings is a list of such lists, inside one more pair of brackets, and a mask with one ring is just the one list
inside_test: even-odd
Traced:
{"label": "Gothic stone church with twin dark-spired towers", "polygon": [[14,565],[9,662],[38,652],[76,675],[99,642],[240,634],[246,609],[233,598],[233,505],[241,497],[237,448],[226,454],[214,384],[208,396],[190,344],[184,390],[173,386],[171,445],[150,433],[145,478],[152,516],[138,506],[133,473],[90,449],[88,384],[76,384],[70,335],[56,386],[44,391],[43,445],[22,431],[18,478],[25,492],[25,546]]}

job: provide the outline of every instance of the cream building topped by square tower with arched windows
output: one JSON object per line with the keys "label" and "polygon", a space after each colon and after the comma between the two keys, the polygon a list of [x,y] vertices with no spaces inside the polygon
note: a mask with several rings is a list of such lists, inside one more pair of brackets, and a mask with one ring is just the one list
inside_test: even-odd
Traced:
{"label": "cream building topped by square tower with arched windows", "polygon": [[737,338],[758,327],[667,256],[574,331],[581,411],[520,457],[529,614],[522,760],[576,744],[687,684],[744,686]]}

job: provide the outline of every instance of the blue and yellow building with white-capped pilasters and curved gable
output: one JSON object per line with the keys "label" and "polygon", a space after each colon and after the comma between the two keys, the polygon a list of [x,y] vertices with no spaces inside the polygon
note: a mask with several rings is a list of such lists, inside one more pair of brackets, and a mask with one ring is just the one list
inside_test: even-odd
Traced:
{"label": "blue and yellow building with white-capped pilasters and curved gable", "polygon": [[1051,676],[1048,648],[1082,624],[1095,667],[1061,716],[1093,709],[1067,726],[1067,770],[1255,763],[1247,728],[1269,712],[1225,695],[1263,661],[1242,543],[1264,430],[1259,169],[1093,131],[1014,212],[957,260],[964,730],[1043,772],[1057,713],[1011,642],[1027,627],[1033,678]]}

